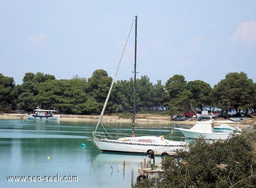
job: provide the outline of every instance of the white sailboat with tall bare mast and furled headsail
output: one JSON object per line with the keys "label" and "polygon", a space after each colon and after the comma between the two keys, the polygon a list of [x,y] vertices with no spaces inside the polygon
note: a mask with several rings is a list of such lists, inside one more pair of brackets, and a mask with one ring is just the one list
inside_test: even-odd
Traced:
{"label": "white sailboat with tall bare mast and furled headsail", "polygon": [[[133,25],[133,23],[132,23]],[[131,33],[131,30],[130,30]],[[129,35],[130,35],[129,33]],[[126,41],[127,43],[127,41]],[[125,43],[125,46],[126,46]],[[177,150],[186,150],[187,143],[185,141],[172,141],[165,139],[164,136],[136,136],[135,135],[135,119],[136,119],[136,52],[137,52],[137,16],[135,16],[135,52],[134,52],[134,91],[133,91],[133,116],[132,116],[132,132],[131,134],[124,134],[122,132],[109,133],[106,131],[106,126],[109,127],[103,121],[104,111],[108,104],[108,99],[115,82],[116,74],[120,66],[120,59],[118,68],[115,73],[115,77],[111,83],[108,97],[100,113],[99,121],[95,131],[92,132],[93,143],[101,150],[102,152],[120,152],[120,153],[147,153],[148,150],[153,150],[155,155],[163,155],[168,153],[173,155]],[[124,54],[124,51],[123,51]],[[99,125],[102,125],[104,132],[98,131]],[[106,132],[105,132],[106,131]]]}

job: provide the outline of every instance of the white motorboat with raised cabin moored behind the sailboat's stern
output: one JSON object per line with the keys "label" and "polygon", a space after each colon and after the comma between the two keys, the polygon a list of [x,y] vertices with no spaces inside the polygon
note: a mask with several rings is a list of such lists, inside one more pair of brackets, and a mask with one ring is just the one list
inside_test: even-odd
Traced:
{"label": "white motorboat with raised cabin moored behind the sailboat's stern", "polygon": [[[219,126],[219,131],[214,130],[214,120],[209,121],[197,121],[191,129],[174,128],[184,134],[185,137],[190,139],[197,139],[198,137],[204,137],[209,140],[225,140],[229,136],[232,136],[234,130],[230,130],[230,126]],[[225,130],[226,129],[226,130]],[[227,130],[228,129],[228,130]],[[221,130],[221,131],[220,131]],[[239,134],[239,133],[237,133]]]}

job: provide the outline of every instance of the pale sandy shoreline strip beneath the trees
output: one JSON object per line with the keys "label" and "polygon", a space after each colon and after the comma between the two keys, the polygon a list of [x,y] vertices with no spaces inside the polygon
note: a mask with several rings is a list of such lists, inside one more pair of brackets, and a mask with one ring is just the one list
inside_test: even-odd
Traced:
{"label": "pale sandy shoreline strip beneath the trees", "polygon": [[[72,115],[72,114],[60,114],[61,118],[60,121],[71,121],[71,122],[85,122],[85,121],[92,121],[97,122],[99,120],[99,116],[97,115]],[[18,113],[1,113],[0,120],[24,120],[25,114],[18,114]],[[104,115],[105,122],[111,123],[131,123],[132,120],[130,118],[120,118],[119,116],[115,115]],[[160,116],[154,114],[138,114],[136,117],[136,123],[138,124],[182,124],[182,125],[195,125],[197,120],[188,119],[185,121],[172,121],[170,116]],[[254,120],[249,121],[228,121],[224,119],[218,119],[215,121],[215,125],[220,124],[228,124],[230,126],[239,126],[241,129],[246,129],[246,127],[250,125],[255,125]]]}

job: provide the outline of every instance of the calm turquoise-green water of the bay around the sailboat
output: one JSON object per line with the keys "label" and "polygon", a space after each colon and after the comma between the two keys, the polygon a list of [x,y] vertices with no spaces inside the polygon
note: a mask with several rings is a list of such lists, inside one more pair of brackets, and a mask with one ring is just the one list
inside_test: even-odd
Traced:
{"label": "calm turquoise-green water of the bay around the sailboat", "polygon": [[[115,125],[127,131],[130,126]],[[140,162],[147,157],[100,153],[90,141],[94,129],[95,123],[0,120],[1,187],[131,187]],[[168,135],[170,126],[140,127],[138,131]],[[6,176],[26,176],[27,181],[9,182]],[[77,176],[78,182],[50,182],[49,176],[59,176],[59,180]]]}

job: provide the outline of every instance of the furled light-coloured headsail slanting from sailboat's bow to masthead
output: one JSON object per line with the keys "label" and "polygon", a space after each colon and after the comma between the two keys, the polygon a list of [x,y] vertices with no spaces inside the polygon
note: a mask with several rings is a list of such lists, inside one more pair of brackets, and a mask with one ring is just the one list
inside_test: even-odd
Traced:
{"label": "furled light-coloured headsail slanting from sailboat's bow to masthead", "polygon": [[[132,26],[133,26],[133,24],[134,24],[134,19],[133,19],[133,21],[132,21]],[[128,37],[127,37],[127,40],[126,40],[126,42],[125,42],[125,45],[124,45],[124,49],[123,49],[121,58],[120,58],[120,60],[119,60],[118,66],[117,66],[117,68],[116,68],[115,76],[114,76],[114,78],[113,78],[113,80],[112,80],[112,83],[111,83],[111,86],[110,86],[110,88],[109,88],[108,96],[107,96],[107,98],[106,98],[106,100],[105,100],[104,106],[103,106],[102,111],[101,111],[101,113],[100,113],[100,118],[99,118],[99,121],[98,121],[98,123],[97,123],[97,125],[96,125],[95,131],[96,131],[96,130],[98,129],[98,127],[99,127],[99,123],[100,123],[100,121],[101,121],[102,118],[103,118],[104,111],[105,111],[106,106],[107,106],[107,104],[108,104],[108,100],[109,100],[109,97],[110,97],[110,94],[111,94],[111,90],[112,90],[112,88],[113,88],[113,85],[114,85],[114,82],[115,82],[115,79],[116,79],[116,75],[117,75],[118,69],[119,69],[119,67],[120,67],[122,58],[123,58],[123,56],[124,56],[124,51],[125,51],[126,45],[127,45],[127,43],[128,43],[129,36],[131,35],[132,26],[131,26],[131,29],[130,29],[130,31],[129,31],[129,35],[128,35]]]}

